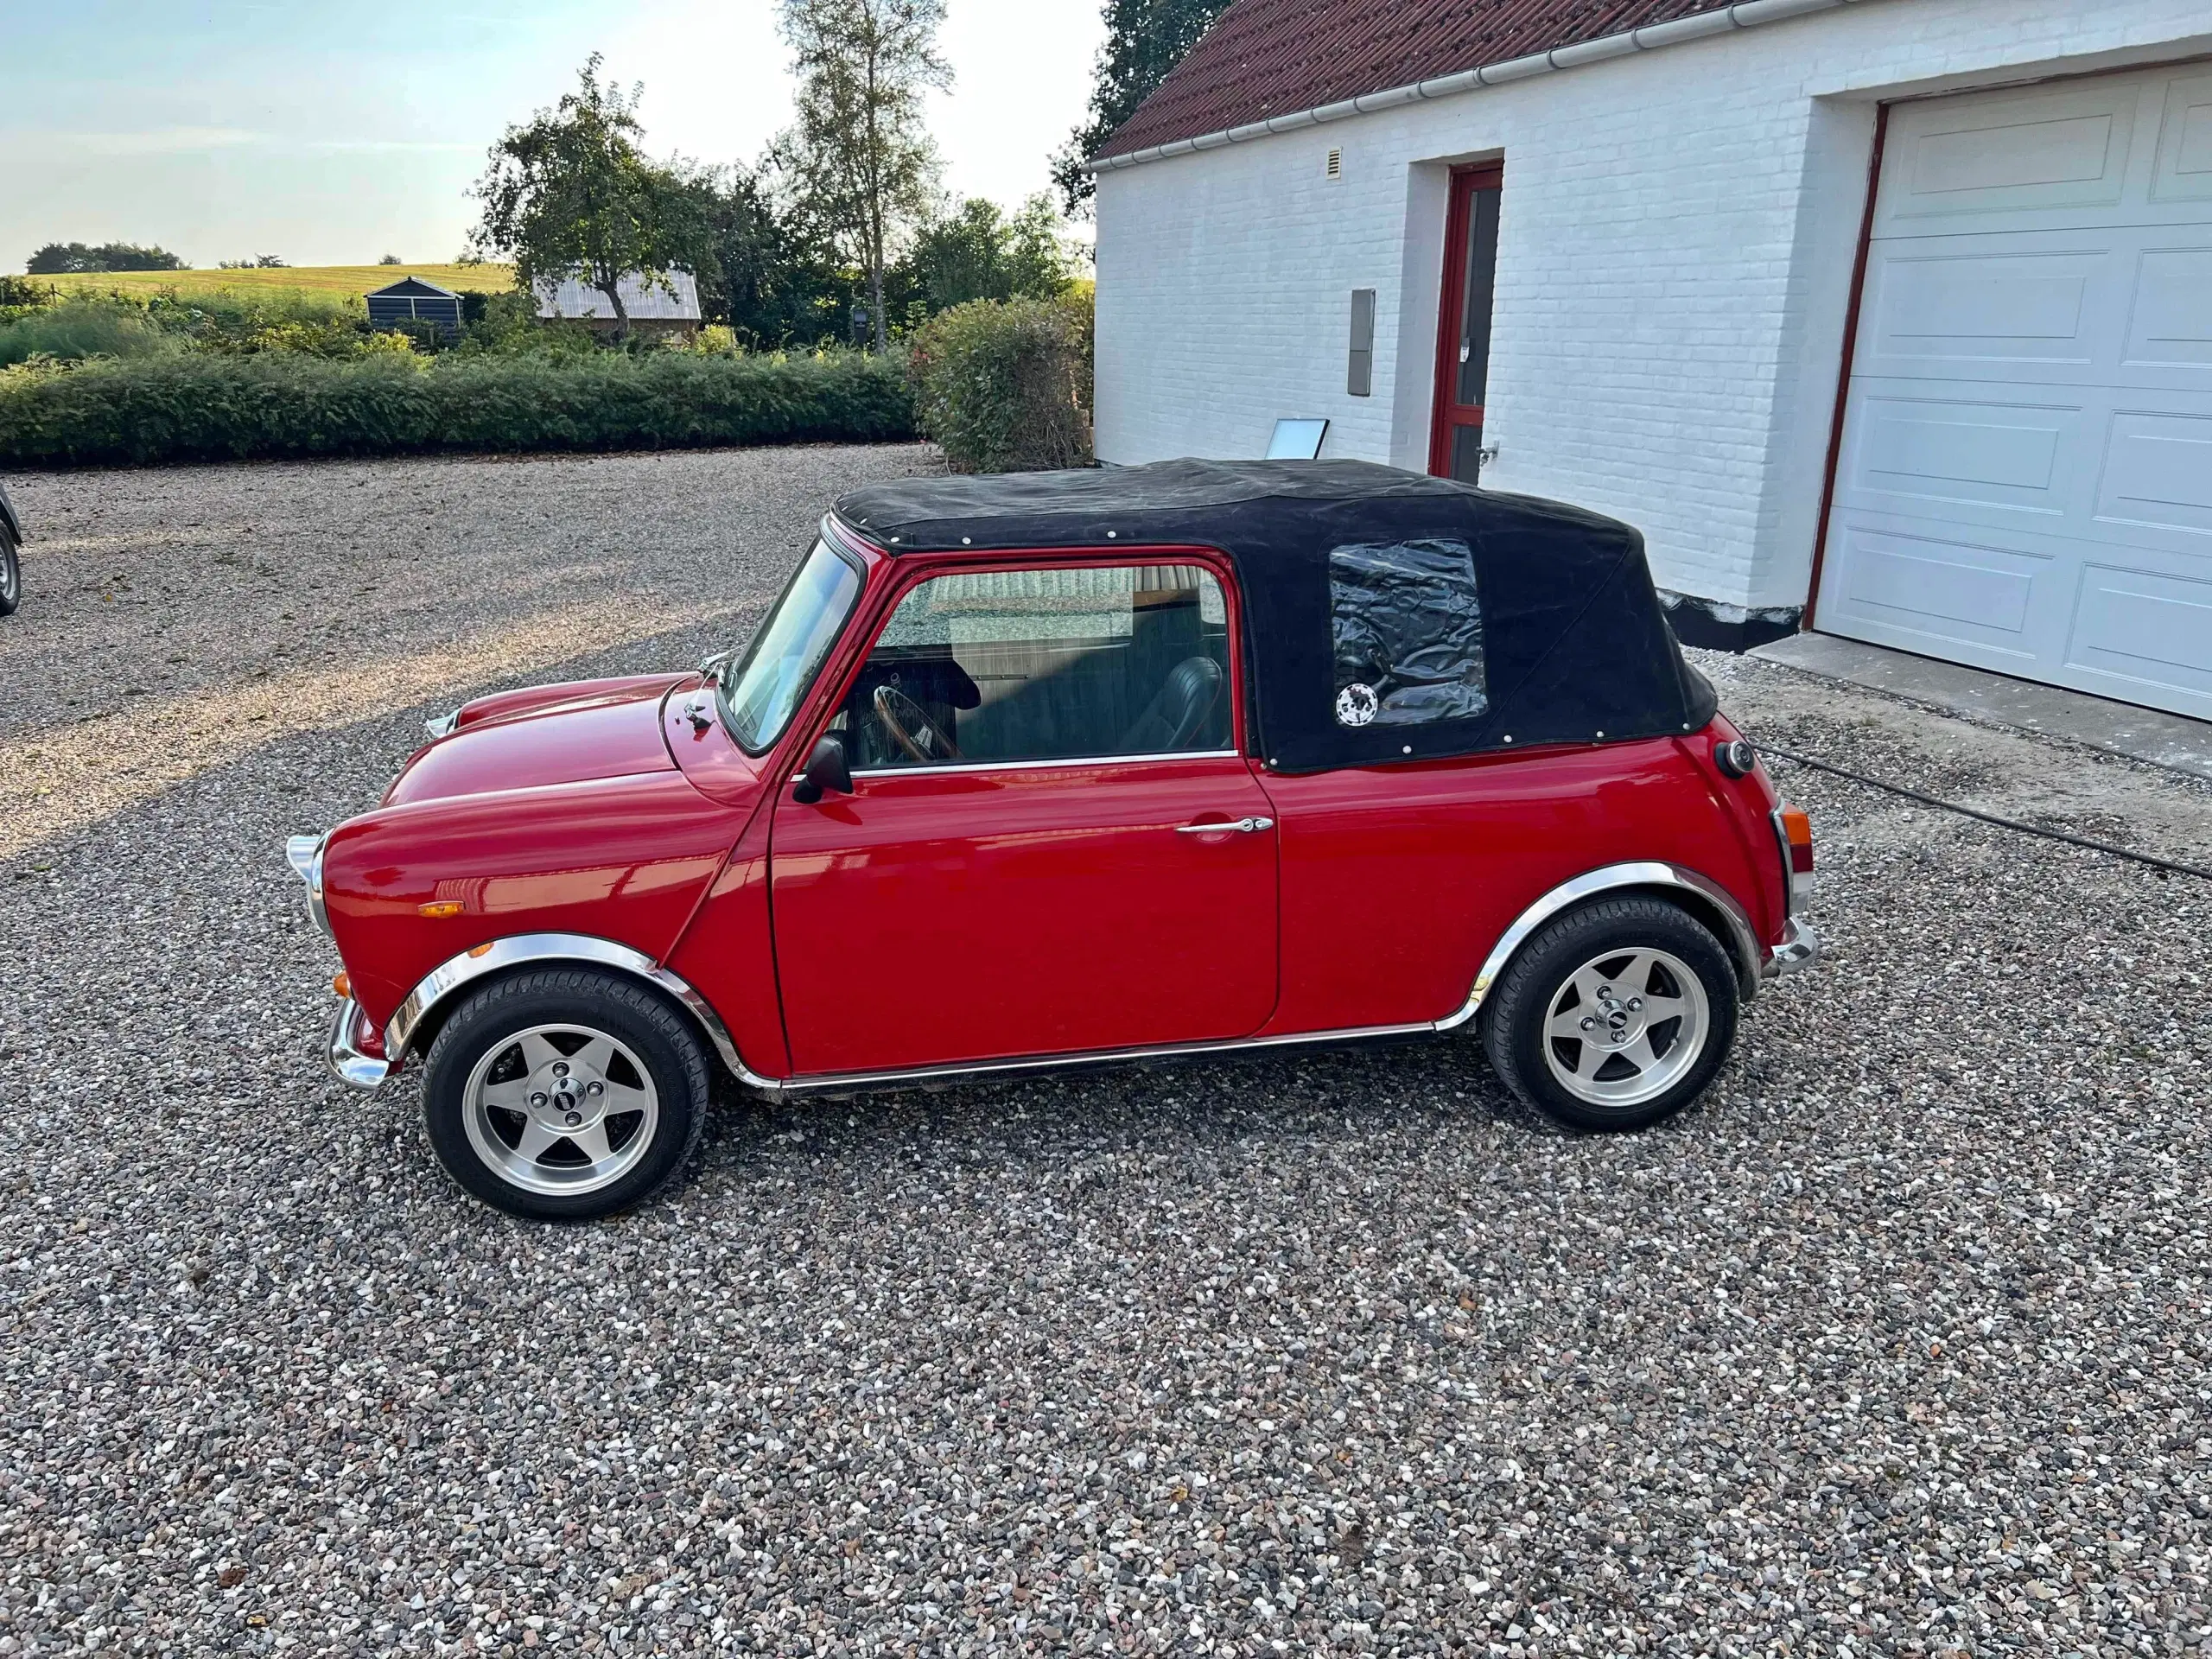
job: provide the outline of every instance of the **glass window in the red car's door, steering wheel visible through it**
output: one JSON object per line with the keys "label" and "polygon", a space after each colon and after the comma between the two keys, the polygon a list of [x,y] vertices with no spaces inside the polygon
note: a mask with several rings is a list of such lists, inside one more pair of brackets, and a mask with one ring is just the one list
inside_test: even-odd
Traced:
{"label": "glass window in the red car's door, steering wheel visible through it", "polygon": [[1221,584],[1192,564],[933,577],[838,726],[865,770],[1232,748]]}

